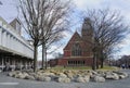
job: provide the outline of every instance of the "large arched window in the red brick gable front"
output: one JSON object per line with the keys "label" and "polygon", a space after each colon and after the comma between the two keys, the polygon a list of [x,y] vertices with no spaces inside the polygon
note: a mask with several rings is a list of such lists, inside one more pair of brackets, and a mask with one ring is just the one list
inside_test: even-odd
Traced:
{"label": "large arched window in the red brick gable front", "polygon": [[72,48],[72,55],[73,56],[80,56],[81,55],[81,47],[79,43],[75,43]]}

